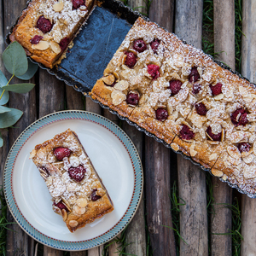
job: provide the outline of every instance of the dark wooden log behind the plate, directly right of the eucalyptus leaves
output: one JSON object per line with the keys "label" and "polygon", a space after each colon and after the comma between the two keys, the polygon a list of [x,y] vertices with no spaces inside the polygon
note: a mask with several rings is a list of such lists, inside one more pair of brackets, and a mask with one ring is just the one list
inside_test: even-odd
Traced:
{"label": "dark wooden log behind the plate, directly right of the eucalyptus leaves", "polygon": [[[43,69],[39,70],[39,118],[64,109],[65,84]],[[61,132],[61,131],[60,131]],[[61,256],[63,252],[44,246],[44,256]]]}

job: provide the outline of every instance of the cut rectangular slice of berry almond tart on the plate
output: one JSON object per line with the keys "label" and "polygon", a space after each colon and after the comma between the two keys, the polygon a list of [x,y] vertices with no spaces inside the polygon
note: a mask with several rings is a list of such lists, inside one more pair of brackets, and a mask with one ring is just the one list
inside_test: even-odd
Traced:
{"label": "cut rectangular slice of berry almond tart on the plate", "polygon": [[49,189],[54,212],[71,232],[113,211],[108,191],[74,131],[38,144],[30,158]]}

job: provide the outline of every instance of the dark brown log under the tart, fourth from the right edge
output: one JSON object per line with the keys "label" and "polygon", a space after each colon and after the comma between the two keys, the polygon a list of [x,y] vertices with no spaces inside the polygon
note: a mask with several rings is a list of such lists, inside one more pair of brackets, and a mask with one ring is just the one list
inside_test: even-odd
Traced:
{"label": "dark brown log under the tart, fourth from the right edge", "polygon": [[[172,32],[174,1],[153,0],[149,19]],[[176,255],[172,230],[170,149],[145,137],[145,195],[147,225],[153,255]]]}

